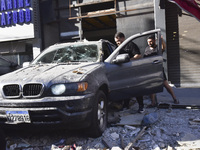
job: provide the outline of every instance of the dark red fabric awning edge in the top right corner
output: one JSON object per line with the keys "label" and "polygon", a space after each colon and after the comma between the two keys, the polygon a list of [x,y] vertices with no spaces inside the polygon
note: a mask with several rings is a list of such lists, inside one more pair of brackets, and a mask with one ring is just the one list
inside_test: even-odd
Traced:
{"label": "dark red fabric awning edge in the top right corner", "polygon": [[168,0],[200,21],[200,0]]}

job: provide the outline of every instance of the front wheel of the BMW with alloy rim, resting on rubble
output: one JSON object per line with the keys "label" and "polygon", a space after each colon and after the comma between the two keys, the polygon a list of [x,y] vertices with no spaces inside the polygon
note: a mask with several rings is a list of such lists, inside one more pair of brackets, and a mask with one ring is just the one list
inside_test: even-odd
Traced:
{"label": "front wheel of the BMW with alloy rim, resting on rubble", "polygon": [[99,137],[107,127],[108,108],[107,97],[103,91],[98,91],[92,110],[91,136]]}

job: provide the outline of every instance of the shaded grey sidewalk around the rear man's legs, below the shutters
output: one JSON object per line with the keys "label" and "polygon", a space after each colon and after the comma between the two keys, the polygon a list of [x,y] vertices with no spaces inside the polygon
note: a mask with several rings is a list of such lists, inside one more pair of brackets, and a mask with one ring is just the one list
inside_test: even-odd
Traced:
{"label": "shaded grey sidewalk around the rear man's legs, below the shutters", "polygon": [[[200,88],[172,88],[180,102],[178,105],[200,107]],[[165,88],[163,92],[157,93],[157,100],[158,103],[174,104],[171,95]]]}

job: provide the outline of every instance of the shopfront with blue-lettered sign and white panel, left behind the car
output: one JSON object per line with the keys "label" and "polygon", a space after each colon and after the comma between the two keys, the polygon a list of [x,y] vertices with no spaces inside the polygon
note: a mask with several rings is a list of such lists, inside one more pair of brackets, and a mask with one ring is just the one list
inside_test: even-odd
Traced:
{"label": "shopfront with blue-lettered sign and white panel, left behind the car", "polygon": [[39,7],[36,0],[1,0],[0,54],[18,64],[40,53]]}

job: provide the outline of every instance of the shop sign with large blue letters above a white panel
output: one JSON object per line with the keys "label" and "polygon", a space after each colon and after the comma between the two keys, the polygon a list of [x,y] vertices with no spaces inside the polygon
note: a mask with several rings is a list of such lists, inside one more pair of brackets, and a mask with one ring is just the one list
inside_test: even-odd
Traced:
{"label": "shop sign with large blue letters above a white panel", "polygon": [[[34,38],[36,0],[0,0],[0,42]],[[35,17],[33,17],[35,16]]]}

